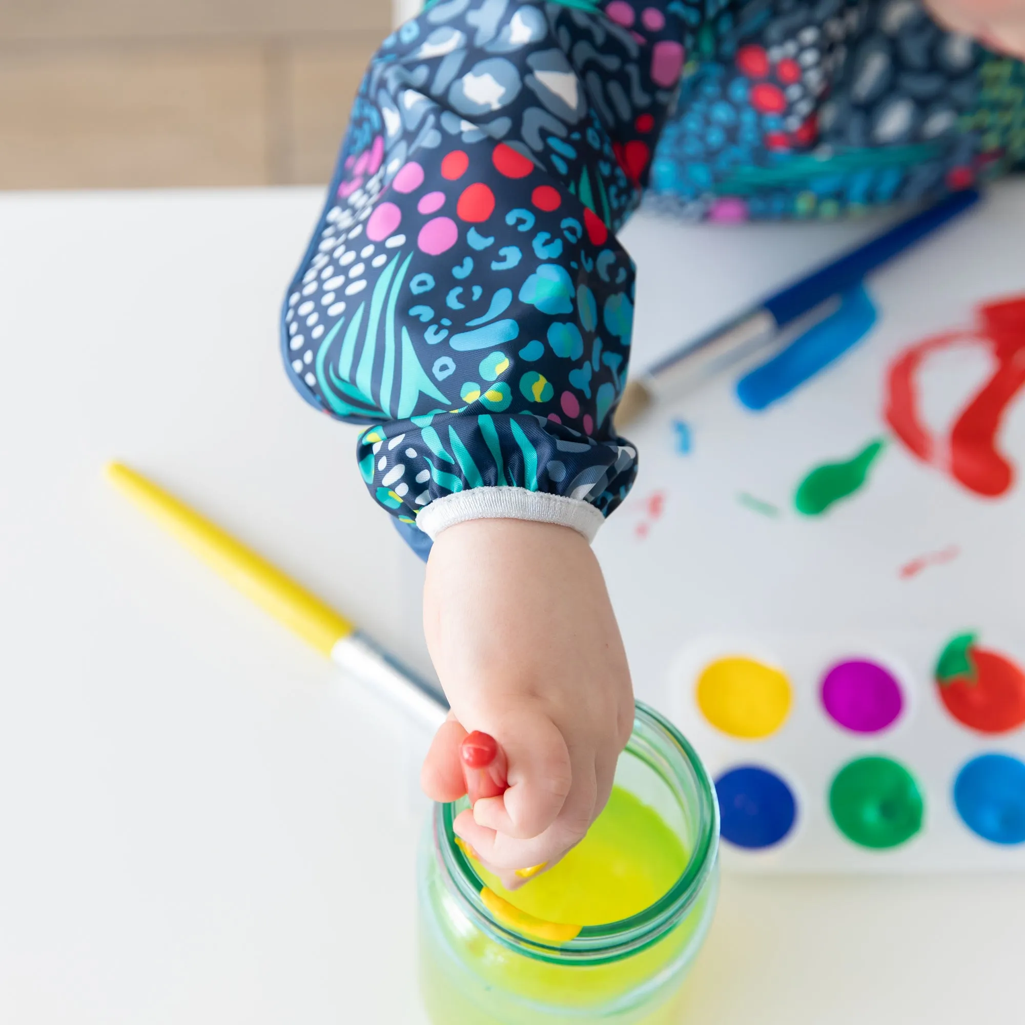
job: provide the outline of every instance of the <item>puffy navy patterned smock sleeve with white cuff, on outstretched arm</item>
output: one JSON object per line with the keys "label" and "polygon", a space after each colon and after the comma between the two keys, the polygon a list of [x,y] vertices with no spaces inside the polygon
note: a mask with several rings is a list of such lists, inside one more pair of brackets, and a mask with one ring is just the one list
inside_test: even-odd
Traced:
{"label": "puffy navy patterned smock sleeve with white cuff, on outstretched arm", "polygon": [[283,350],[309,402],[368,425],[363,479],[407,533],[516,518],[591,538],[629,490],[615,232],[699,8],[443,0],[373,58]]}

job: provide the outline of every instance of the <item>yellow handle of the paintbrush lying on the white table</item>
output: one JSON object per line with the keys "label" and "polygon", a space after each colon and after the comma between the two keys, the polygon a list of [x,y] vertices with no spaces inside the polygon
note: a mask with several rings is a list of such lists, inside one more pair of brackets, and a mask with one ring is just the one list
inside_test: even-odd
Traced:
{"label": "yellow handle of the paintbrush lying on the white table", "polygon": [[276,566],[216,524],[119,462],[107,467],[110,481],[208,566],[276,619],[330,656],[335,643],[356,627]]}

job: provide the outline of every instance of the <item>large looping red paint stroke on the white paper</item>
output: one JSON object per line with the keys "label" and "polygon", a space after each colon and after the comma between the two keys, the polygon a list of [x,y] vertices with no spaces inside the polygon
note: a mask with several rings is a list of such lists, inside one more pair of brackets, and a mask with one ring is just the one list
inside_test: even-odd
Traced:
{"label": "large looping red paint stroke on the white paper", "polygon": [[[997,448],[997,435],[1008,407],[1025,386],[1025,295],[985,303],[978,320],[974,328],[917,342],[894,361],[885,416],[922,462],[942,467],[976,494],[996,498],[1015,479],[1015,467]],[[929,356],[963,341],[988,348],[996,368],[961,410],[944,444],[921,419],[915,375]]]}

